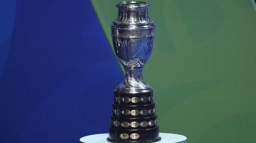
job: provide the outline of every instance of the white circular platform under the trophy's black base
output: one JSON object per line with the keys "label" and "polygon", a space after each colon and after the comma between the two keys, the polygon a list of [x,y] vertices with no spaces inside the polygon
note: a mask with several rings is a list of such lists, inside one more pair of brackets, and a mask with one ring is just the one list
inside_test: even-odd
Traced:
{"label": "white circular platform under the trophy's black base", "polygon": [[[162,138],[161,141],[157,143],[186,143],[187,137],[179,134],[170,133],[159,133]],[[84,136],[80,139],[81,143],[109,143],[107,141],[108,133],[106,134],[93,134]]]}

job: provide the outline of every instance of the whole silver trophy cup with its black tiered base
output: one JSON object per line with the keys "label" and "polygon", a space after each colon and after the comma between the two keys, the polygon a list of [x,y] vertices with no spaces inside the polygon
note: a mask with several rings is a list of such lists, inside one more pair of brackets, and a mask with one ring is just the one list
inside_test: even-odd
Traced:
{"label": "whole silver trophy cup with its black tiered base", "polygon": [[112,41],[125,79],[114,91],[109,142],[160,141],[153,90],[142,77],[152,52],[155,25],[146,2],[120,2],[111,25]]}

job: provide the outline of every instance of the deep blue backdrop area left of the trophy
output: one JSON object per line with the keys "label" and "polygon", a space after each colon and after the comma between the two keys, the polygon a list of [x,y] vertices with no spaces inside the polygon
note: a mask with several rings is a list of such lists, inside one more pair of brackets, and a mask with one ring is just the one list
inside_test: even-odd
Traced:
{"label": "deep blue backdrop area left of the trophy", "polygon": [[108,132],[123,75],[90,1],[0,4],[0,142]]}

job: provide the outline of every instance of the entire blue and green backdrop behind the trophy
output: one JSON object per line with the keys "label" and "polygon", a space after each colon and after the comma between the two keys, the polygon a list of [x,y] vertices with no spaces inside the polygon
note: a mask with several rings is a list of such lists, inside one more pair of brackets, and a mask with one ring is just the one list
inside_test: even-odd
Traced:
{"label": "entire blue and green backdrop behind the trophy", "polygon": [[[118,0],[0,1],[0,142],[79,142],[107,133],[124,70],[112,50]],[[188,143],[255,142],[253,0],[147,0],[143,78],[160,132]]]}

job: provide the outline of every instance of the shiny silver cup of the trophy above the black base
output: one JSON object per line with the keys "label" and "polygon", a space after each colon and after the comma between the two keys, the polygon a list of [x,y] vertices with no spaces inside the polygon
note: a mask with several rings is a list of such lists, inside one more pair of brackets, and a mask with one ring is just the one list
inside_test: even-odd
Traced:
{"label": "shiny silver cup of the trophy above the black base", "polygon": [[118,16],[111,25],[112,41],[117,59],[126,73],[117,90],[151,91],[142,78],[142,68],[152,52],[155,35],[155,25],[148,17],[149,4],[120,2],[116,6]]}

